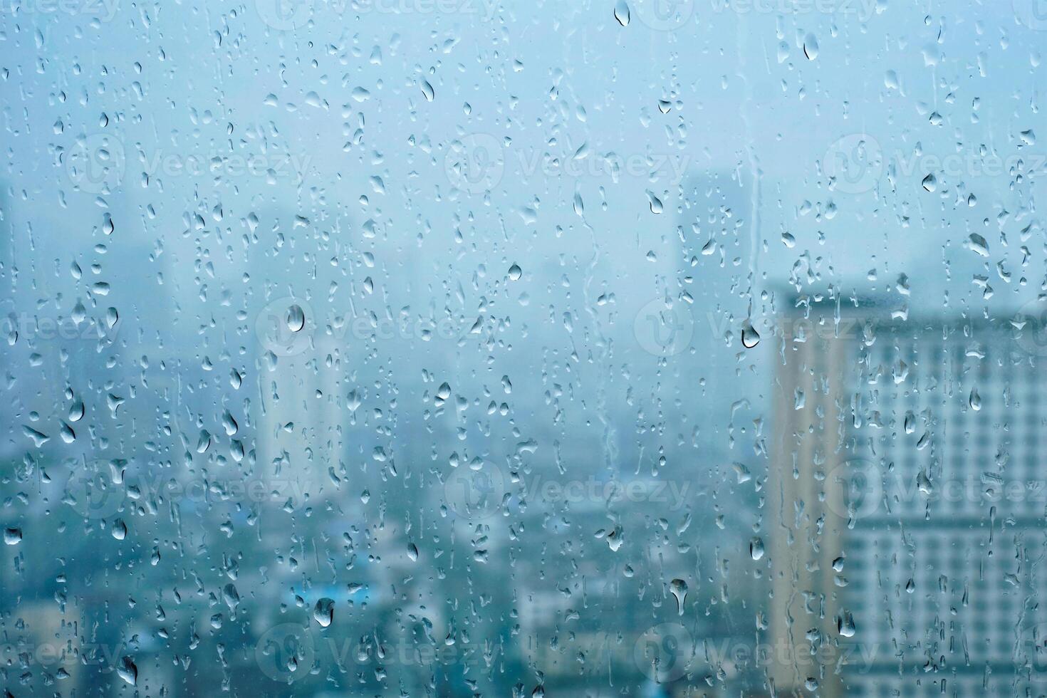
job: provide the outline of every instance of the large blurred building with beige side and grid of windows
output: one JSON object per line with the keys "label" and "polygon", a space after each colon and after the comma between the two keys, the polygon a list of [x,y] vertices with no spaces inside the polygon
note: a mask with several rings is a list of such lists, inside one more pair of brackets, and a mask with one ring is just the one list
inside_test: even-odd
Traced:
{"label": "large blurred building with beige side and grid of windows", "polygon": [[1039,695],[1042,359],[1010,318],[787,305],[768,487],[779,695]]}

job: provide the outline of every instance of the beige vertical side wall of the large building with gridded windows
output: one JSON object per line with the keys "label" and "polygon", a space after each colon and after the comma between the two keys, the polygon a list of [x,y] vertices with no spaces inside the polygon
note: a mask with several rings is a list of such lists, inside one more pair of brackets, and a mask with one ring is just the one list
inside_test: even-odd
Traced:
{"label": "beige vertical side wall of the large building with gridded windows", "polygon": [[[783,301],[773,336],[776,354],[775,427],[766,492],[766,528],[771,557],[767,668],[773,692],[819,681],[823,694],[840,695],[839,676],[812,666],[807,658],[817,647],[831,646],[840,613],[834,587],[834,561],[843,554],[846,522],[832,515],[841,510],[825,487],[826,473],[844,452],[846,421],[853,384],[848,362],[856,356],[856,323],[864,311],[841,303]],[[838,336],[840,313],[851,332]],[[764,333],[770,335],[771,333]],[[770,350],[768,350],[770,351]],[[844,382],[846,381],[846,384]],[[837,563],[839,564],[839,563]]]}

